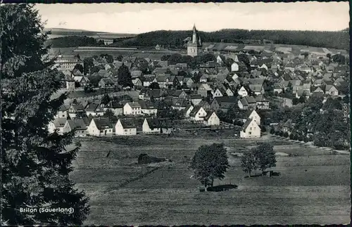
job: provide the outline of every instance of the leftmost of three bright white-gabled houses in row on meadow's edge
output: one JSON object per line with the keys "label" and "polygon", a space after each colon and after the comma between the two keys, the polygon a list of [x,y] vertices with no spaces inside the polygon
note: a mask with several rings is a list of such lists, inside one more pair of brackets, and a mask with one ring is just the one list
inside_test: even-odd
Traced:
{"label": "leftmost of three bright white-gabled houses in row on meadow's edge", "polygon": [[113,124],[107,117],[93,118],[87,132],[90,136],[112,136]]}

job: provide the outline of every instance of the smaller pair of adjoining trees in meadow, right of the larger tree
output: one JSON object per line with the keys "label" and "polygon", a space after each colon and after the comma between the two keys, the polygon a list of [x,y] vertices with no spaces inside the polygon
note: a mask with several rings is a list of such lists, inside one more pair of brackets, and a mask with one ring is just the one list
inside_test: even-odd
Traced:
{"label": "smaller pair of adjoining trees in meadow, right of the larger tree", "polygon": [[249,176],[256,169],[264,172],[265,169],[275,166],[275,151],[270,143],[262,143],[258,147],[245,152],[241,157],[241,167]]}

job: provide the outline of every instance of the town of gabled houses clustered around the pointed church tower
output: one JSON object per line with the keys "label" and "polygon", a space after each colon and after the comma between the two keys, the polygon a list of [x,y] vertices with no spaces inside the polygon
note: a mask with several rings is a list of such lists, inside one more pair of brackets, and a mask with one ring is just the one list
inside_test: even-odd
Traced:
{"label": "town of gabled houses clustered around the pointed church tower", "polygon": [[[56,65],[65,74],[64,89],[75,92],[94,86],[89,78],[98,77],[94,89],[106,94],[95,100],[72,99],[65,103],[49,130],[58,130],[59,134],[75,131],[76,136],[172,134],[178,129],[172,122],[183,122],[195,128],[230,127],[239,138],[260,138],[266,123],[285,127],[289,122],[261,119],[260,112],[277,106],[291,107],[311,97],[327,100],[348,94],[348,56],[335,53],[344,60],[334,59],[334,53],[327,48],[321,48],[322,52],[301,49],[300,53],[293,53],[290,47],[268,50],[263,46],[242,46],[239,50],[235,44],[203,44],[195,26],[193,36],[184,42],[187,56],[207,56],[210,60],[190,67],[182,60],[177,62],[186,55],[171,55],[169,60],[122,56],[110,63],[101,57],[93,60],[98,72],[84,73],[77,67],[83,68],[84,59],[58,53]],[[160,48],[156,46],[156,50]],[[141,62],[152,71],[145,72]],[[120,67],[128,69],[132,81],[129,86],[119,83]],[[114,96],[117,90],[125,95]],[[138,96],[132,98],[129,92]],[[226,122],[224,116],[233,111],[239,115]],[[176,117],[171,118],[170,112]]]}

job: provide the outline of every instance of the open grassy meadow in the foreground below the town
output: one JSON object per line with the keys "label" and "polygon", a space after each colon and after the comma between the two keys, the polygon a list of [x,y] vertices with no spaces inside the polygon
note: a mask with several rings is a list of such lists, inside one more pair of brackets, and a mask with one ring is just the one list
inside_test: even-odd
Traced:
{"label": "open grassy meadow in the foreground below the town", "polygon": [[[239,187],[220,193],[199,192],[201,184],[190,179],[193,173],[187,169],[199,145],[225,143],[230,153],[234,147],[246,148],[256,141],[143,135],[84,139],[71,179],[91,198],[91,214],[85,224],[349,223],[349,156],[299,148],[288,141],[272,141],[276,152],[298,155],[277,156],[277,167],[272,170],[279,176],[245,178],[239,158],[229,155],[231,167],[226,178],[215,185]],[[108,150],[111,155],[106,158]],[[159,169],[141,167],[137,164],[141,153],[165,157],[172,163]],[[145,176],[138,177],[142,173]]]}

